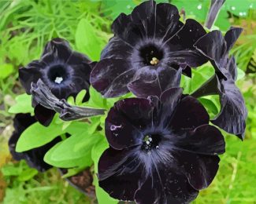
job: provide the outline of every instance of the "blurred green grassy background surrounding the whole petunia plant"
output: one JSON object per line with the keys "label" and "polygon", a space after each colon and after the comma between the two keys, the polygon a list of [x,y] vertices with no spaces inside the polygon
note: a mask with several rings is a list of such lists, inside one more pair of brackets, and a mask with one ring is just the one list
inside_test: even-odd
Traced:
{"label": "blurred green grassy background surrounding the whole petunia plant", "polygon": [[[130,13],[139,0],[0,0],[0,202],[91,203],[70,187],[57,169],[38,173],[26,163],[14,162],[7,142],[13,131],[9,107],[24,93],[17,80],[19,67],[38,59],[51,38],[66,38],[72,47],[98,60],[112,36],[110,25],[119,13]],[[202,24],[210,0],[173,0],[182,19]],[[184,12],[183,12],[184,13]],[[247,109],[246,139],[225,134],[227,150],[210,188],[201,191],[195,203],[256,203],[256,0],[226,0],[213,29],[243,27],[232,49],[238,67],[245,73],[237,82]],[[242,73],[243,75],[243,73]],[[107,204],[107,203],[106,203]]]}

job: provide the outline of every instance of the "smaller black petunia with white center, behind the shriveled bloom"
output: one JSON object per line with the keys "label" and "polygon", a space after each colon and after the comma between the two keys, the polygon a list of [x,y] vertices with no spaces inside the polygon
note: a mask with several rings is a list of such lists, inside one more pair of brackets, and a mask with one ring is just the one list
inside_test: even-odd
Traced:
{"label": "smaller black petunia with white center, behind the shriveled bloom", "polygon": [[[49,87],[58,99],[76,96],[82,89],[89,89],[91,61],[81,53],[72,51],[69,42],[54,38],[45,46],[39,60],[34,60],[19,70],[21,85],[31,94],[32,82],[39,78]],[[87,92],[88,93],[88,92]],[[88,99],[88,94],[84,100]],[[33,101],[35,118],[44,126],[48,126],[55,111],[46,109]]]}

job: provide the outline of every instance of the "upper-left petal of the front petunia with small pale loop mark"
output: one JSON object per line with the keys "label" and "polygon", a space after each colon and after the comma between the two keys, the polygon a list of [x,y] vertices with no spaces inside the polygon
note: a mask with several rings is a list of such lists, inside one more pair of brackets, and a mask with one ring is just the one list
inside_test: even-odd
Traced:
{"label": "upper-left petal of the front petunia with small pale loop mark", "polygon": [[[150,114],[147,111],[151,109],[147,99],[130,98],[118,101],[106,117],[105,131],[109,145],[115,149],[123,149],[141,144],[143,134],[139,125],[148,123]],[[145,115],[141,115],[142,113]],[[139,124],[132,119],[139,121]]]}

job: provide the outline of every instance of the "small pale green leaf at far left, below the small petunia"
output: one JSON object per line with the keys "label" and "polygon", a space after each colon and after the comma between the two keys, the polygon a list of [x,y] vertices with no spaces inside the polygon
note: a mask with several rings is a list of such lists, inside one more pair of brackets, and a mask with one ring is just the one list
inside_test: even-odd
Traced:
{"label": "small pale green leaf at far left, below the small petunia", "polygon": [[9,113],[33,113],[32,96],[27,93],[21,94],[15,98],[17,104],[9,108]]}

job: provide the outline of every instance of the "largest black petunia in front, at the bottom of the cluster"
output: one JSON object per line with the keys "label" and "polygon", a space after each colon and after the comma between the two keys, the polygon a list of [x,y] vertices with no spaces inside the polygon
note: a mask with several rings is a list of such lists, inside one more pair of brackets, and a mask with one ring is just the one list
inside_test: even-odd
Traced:
{"label": "largest black petunia in front, at the bottom of the cluster", "polygon": [[98,162],[99,186],[137,203],[191,202],[210,185],[224,153],[206,109],[180,88],[118,101],[106,118],[110,147]]}

